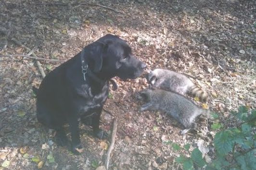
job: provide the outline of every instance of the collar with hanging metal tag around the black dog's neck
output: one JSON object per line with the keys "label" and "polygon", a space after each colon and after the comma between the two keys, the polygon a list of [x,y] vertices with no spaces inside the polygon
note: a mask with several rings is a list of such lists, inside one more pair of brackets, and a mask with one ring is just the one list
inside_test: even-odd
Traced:
{"label": "collar with hanging metal tag around the black dog's neck", "polygon": [[95,80],[96,82],[100,83],[101,85],[105,84],[106,80],[102,80],[99,77],[97,77],[93,72],[91,72],[88,64],[86,63],[85,59],[85,49],[82,49],[82,52],[80,53],[80,58],[81,58],[81,65],[82,65],[82,74],[83,74],[83,78],[84,81],[86,81],[86,77],[85,74],[88,73],[88,75]]}

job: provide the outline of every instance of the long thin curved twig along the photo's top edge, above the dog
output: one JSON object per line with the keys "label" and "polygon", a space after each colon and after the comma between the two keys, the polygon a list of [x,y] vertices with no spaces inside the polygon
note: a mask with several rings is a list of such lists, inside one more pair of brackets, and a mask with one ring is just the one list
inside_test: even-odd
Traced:
{"label": "long thin curved twig along the photo's top edge, above the dog", "polygon": [[68,3],[61,3],[61,2],[55,2],[55,3],[47,2],[47,3],[36,3],[36,5],[60,5],[60,6],[88,5],[88,6],[102,7],[102,8],[105,8],[107,10],[114,11],[116,13],[124,13],[124,12],[121,12],[121,11],[117,11],[114,8],[110,8],[110,7],[107,7],[107,6],[98,4],[98,3],[77,3],[76,2],[76,3],[68,4]]}

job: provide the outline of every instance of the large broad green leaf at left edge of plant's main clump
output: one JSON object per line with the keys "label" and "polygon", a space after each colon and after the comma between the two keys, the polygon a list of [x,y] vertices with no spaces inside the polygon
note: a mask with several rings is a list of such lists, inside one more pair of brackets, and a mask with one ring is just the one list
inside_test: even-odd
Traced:
{"label": "large broad green leaf at left edge of plant's main clump", "polygon": [[234,141],[229,130],[218,132],[214,138],[214,146],[221,157],[227,155],[233,148]]}

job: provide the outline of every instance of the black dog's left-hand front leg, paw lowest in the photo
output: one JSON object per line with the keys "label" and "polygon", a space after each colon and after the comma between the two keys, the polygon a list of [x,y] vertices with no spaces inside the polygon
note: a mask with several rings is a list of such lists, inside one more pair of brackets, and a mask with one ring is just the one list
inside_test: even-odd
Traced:
{"label": "black dog's left-hand front leg, paw lowest in the photo", "polygon": [[69,129],[71,132],[71,149],[75,154],[80,153],[79,151],[82,149],[80,134],[79,134],[79,123],[77,116],[72,116],[69,118]]}

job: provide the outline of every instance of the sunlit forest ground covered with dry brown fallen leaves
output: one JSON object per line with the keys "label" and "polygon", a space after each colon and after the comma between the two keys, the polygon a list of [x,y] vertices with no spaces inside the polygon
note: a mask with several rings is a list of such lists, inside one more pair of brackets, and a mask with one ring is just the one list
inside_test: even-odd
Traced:
{"label": "sunlit forest ground covered with dry brown fallen leaves", "polygon": [[[42,4],[51,2],[53,4]],[[167,68],[192,75],[209,95],[206,103],[218,121],[234,126],[230,115],[241,105],[256,108],[256,1],[254,0],[90,0],[111,7],[54,4],[55,0],[0,0],[0,54],[27,54],[67,61],[107,33],[124,38],[148,68]],[[59,2],[59,1],[58,1]],[[75,1],[62,0],[62,3]],[[48,73],[60,62],[40,61]],[[107,140],[95,139],[81,126],[84,151],[76,156],[52,142],[36,119],[32,85],[42,80],[35,61],[0,57],[0,169],[93,170],[104,165]],[[111,90],[105,109],[117,118],[110,169],[166,170],[180,167],[174,158],[207,146],[214,159],[211,123],[202,121],[190,134],[162,112],[140,112],[136,97],[144,78],[122,82]],[[198,106],[202,103],[196,102]],[[103,112],[102,128],[110,132],[112,117]],[[70,134],[68,134],[70,135]],[[173,145],[190,144],[190,151]],[[39,163],[39,165],[38,165]]]}

